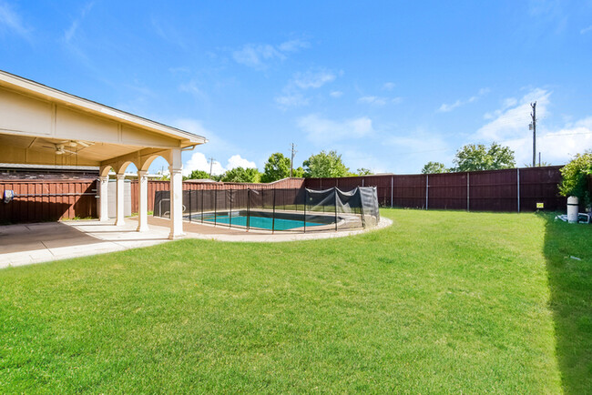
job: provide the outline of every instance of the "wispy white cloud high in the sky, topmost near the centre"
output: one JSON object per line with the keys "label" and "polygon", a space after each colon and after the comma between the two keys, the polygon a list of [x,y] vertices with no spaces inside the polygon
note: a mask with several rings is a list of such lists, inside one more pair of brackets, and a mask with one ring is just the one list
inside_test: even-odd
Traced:
{"label": "wispy white cloud high in the sky, topmost near the centre", "polygon": [[310,44],[300,39],[286,41],[278,46],[270,44],[245,44],[242,48],[232,52],[237,63],[257,70],[263,70],[271,60],[284,60],[288,53],[308,48]]}

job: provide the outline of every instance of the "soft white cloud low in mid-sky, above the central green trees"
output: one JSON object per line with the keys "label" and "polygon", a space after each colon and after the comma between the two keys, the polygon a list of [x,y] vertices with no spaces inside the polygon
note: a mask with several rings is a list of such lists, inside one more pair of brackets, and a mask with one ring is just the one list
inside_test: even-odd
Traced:
{"label": "soft white cloud low in mid-sky, above the central green trees", "polygon": [[306,133],[312,143],[320,146],[340,141],[343,138],[360,138],[373,134],[372,119],[367,116],[340,122],[311,114],[302,116],[298,120],[298,127]]}

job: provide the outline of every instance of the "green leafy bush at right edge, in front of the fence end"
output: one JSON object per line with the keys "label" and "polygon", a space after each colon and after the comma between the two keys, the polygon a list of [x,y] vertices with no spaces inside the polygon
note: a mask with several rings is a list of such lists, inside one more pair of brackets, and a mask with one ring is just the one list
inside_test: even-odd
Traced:
{"label": "green leafy bush at right edge, in front of the fence end", "polygon": [[566,197],[578,197],[588,207],[590,192],[587,189],[587,177],[592,174],[592,151],[586,151],[583,155],[577,154],[559,171],[562,177],[559,193]]}

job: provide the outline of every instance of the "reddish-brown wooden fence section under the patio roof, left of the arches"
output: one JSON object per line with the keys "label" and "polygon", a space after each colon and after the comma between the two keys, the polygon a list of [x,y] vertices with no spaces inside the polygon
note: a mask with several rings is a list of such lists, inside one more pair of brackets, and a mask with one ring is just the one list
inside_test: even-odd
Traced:
{"label": "reddish-brown wooden fence section under the patio roof, left of the arches", "polygon": [[97,217],[96,180],[0,180],[0,198],[6,189],[15,198],[0,201],[0,223]]}

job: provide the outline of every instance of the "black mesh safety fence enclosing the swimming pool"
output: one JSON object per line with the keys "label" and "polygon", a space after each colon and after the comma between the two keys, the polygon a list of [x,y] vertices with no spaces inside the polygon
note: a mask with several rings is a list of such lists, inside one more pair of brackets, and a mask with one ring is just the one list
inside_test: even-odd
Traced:
{"label": "black mesh safety fence enclosing the swimming pool", "polygon": [[[153,212],[155,217],[170,217],[169,191],[155,192]],[[271,232],[349,230],[373,227],[380,220],[376,187],[184,190],[183,217]]]}

